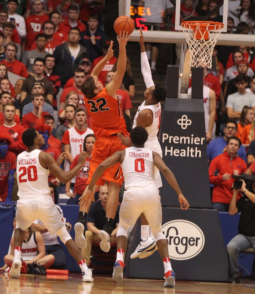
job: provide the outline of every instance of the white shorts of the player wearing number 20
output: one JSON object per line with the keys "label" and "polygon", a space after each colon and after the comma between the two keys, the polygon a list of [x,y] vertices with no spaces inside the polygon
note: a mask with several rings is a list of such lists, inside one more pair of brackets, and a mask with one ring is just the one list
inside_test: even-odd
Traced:
{"label": "white shorts of the player wearing number 20", "polygon": [[56,233],[65,225],[64,219],[49,195],[21,198],[17,201],[16,228],[26,230],[37,218],[51,234]]}

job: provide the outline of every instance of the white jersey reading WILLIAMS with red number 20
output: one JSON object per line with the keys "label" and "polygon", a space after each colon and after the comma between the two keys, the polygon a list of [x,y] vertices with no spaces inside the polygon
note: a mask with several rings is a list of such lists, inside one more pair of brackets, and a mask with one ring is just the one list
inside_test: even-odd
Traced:
{"label": "white jersey reading WILLIAMS with red number 20", "polygon": [[44,152],[35,149],[23,151],[17,157],[17,181],[19,199],[36,196],[49,196],[48,175],[50,171],[39,163],[39,154]]}

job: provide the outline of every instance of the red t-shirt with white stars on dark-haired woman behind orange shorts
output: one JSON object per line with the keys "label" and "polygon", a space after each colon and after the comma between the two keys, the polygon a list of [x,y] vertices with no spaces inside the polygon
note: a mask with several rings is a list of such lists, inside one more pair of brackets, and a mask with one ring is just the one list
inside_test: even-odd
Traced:
{"label": "red t-shirt with white stars on dark-haired woman behind orange shorts", "polygon": [[[78,158],[80,154],[76,155],[73,159],[70,170],[73,169],[78,164]],[[74,193],[76,194],[82,194],[85,188],[87,187],[86,182],[89,177],[89,162],[90,158],[86,157],[86,161],[84,163],[84,166],[80,169],[80,171],[76,175],[76,181],[74,184]]]}

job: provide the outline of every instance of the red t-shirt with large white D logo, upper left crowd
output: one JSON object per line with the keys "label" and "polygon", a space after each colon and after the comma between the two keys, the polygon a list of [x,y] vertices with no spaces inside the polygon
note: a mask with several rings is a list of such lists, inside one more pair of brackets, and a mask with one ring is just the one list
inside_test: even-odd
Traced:
{"label": "red t-shirt with large white D logo, upper left crowd", "polygon": [[25,50],[31,50],[33,42],[36,40],[36,35],[42,33],[43,23],[49,19],[47,14],[35,15],[31,14],[26,19],[27,37]]}

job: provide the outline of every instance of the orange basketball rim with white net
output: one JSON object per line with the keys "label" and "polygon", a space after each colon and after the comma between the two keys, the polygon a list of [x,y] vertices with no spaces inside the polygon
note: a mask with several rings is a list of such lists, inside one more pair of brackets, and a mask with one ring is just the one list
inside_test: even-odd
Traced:
{"label": "orange basketball rim with white net", "polygon": [[224,27],[213,21],[184,21],[181,23],[190,50],[191,66],[212,68],[212,51]]}

